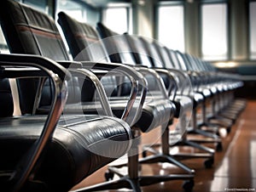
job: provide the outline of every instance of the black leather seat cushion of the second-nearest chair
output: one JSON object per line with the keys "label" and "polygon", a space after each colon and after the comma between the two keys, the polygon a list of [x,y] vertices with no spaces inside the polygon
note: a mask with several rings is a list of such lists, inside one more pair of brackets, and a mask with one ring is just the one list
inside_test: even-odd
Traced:
{"label": "black leather seat cushion of the second-nearest chair", "polygon": [[[121,117],[127,105],[127,100],[110,100],[110,106],[114,116]],[[142,132],[148,132],[155,127],[165,124],[174,116],[175,105],[169,99],[146,99],[143,104],[142,114],[138,117],[136,126]],[[49,112],[48,107],[38,109],[39,114]],[[64,114],[102,114],[102,104],[99,102],[88,102],[82,104],[66,104]],[[132,115],[131,115],[132,116]]]}

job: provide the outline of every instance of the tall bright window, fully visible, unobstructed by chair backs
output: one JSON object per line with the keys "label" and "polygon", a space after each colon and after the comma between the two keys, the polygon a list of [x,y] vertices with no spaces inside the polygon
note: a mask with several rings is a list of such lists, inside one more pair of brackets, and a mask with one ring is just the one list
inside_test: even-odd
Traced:
{"label": "tall bright window, fully visible, unobstructed by chair backs", "polygon": [[202,57],[228,59],[227,4],[203,4],[201,7]]}

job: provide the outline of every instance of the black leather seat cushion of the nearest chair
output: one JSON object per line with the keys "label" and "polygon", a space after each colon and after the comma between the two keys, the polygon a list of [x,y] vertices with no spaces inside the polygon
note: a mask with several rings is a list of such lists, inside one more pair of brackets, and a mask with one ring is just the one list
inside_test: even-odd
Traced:
{"label": "black leather seat cushion of the nearest chair", "polygon": [[[39,137],[44,116],[0,120],[1,172],[14,170]],[[67,191],[131,147],[131,130],[107,116],[61,116],[35,172],[48,191]]]}

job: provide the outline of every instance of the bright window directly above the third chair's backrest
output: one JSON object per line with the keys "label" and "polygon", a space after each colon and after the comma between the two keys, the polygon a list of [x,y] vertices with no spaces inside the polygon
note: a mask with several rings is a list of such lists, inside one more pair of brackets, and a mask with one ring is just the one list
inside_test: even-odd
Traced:
{"label": "bright window directly above the third chair's backrest", "polygon": [[129,7],[108,7],[103,11],[103,23],[119,34],[132,33],[130,11]]}

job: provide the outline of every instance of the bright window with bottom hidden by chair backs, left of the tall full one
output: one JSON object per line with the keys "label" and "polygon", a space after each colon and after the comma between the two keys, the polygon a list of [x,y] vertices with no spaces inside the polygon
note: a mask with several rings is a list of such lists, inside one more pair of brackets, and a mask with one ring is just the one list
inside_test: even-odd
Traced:
{"label": "bright window with bottom hidden by chair backs, left of the tall full one", "polygon": [[168,48],[184,52],[183,5],[163,5],[158,8],[158,40]]}

